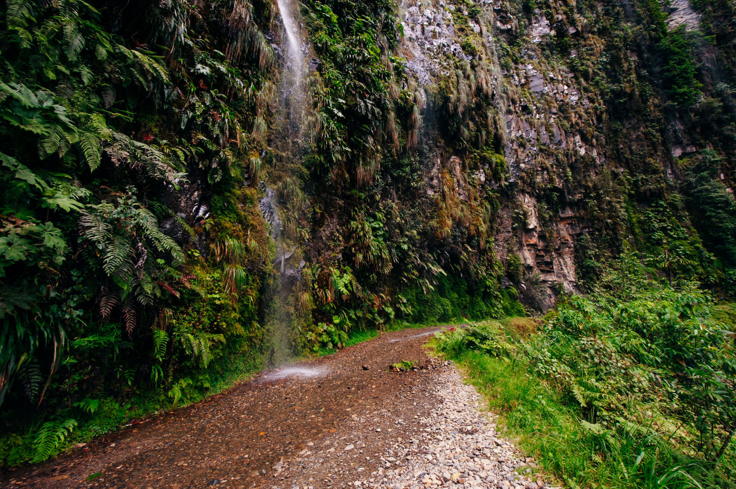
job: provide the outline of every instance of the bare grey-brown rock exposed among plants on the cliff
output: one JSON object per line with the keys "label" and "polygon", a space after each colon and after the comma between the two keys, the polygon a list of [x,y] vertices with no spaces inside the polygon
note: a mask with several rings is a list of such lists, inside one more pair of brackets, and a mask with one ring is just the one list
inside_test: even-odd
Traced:
{"label": "bare grey-brown rock exposed among plants on the cliff", "polygon": [[[572,163],[585,158],[589,171],[605,164],[601,147],[604,138],[591,141],[583,133],[586,129],[595,130],[598,99],[584,96],[564,64],[548,63],[535,49],[542,36],[554,35],[550,21],[539,10],[526,29],[528,48],[523,50],[523,58],[501,68],[497,39],[503,32],[518,29],[517,16],[508,3],[484,1],[481,5],[480,14],[467,18],[465,6],[443,1],[404,1],[401,9],[406,65],[425,90],[430,90],[431,85],[439,84],[450,71],[455,71],[456,61],[485,60],[486,66],[479,69],[485,71],[483,76],[492,87],[496,130],[509,164],[509,182],[505,185],[514,189],[495,223],[496,255],[505,261],[509,253],[519,254],[528,273],[539,272],[548,285],[562,283],[565,290],[575,290],[574,236],[587,229],[584,218],[574,203],[566,204],[553,218],[540,218],[539,203],[524,182],[531,176],[538,183],[555,186],[566,176],[561,172],[566,165],[556,164],[560,159]],[[467,23],[456,29],[455,17]],[[573,34],[577,29],[569,26],[567,32]],[[460,44],[469,33],[475,35],[484,51],[475,54],[475,59]],[[439,163],[429,171],[428,193],[434,193],[439,184]],[[459,199],[467,200],[468,182],[461,174],[461,157],[451,156],[446,165],[456,182],[460,182],[456,188]],[[486,178],[485,170],[476,172],[474,181],[498,188],[499,182]],[[514,209],[523,213],[520,226],[514,225]]]}

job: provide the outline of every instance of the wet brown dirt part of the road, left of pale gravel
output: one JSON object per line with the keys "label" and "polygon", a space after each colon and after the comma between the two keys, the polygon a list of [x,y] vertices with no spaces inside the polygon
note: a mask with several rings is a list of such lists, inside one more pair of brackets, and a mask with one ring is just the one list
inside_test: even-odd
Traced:
{"label": "wet brown dirt part of the road, left of pale gravel", "polygon": [[[342,487],[358,468],[383,466],[373,456],[411,433],[415,416],[431,409],[429,391],[441,365],[422,344],[438,330],[389,332],[298,365],[320,371],[316,376],[264,373],[49,463],[11,471],[0,487]],[[429,368],[389,371],[400,360]],[[330,444],[337,451],[356,448],[344,451],[337,465],[304,463],[302,456]]]}

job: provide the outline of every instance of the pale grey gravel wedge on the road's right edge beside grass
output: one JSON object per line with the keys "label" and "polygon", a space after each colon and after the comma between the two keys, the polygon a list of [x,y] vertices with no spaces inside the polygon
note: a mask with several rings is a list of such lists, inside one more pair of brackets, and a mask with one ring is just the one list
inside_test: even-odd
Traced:
{"label": "pale grey gravel wedge on the road's right edge beside grass", "polygon": [[[381,457],[383,468],[355,487],[427,489],[549,489],[525,457],[496,432],[497,416],[482,412],[481,395],[455,368],[440,374],[437,402],[421,418],[411,440],[395,443]],[[444,378],[443,378],[444,377]],[[378,431],[378,430],[376,430]]]}

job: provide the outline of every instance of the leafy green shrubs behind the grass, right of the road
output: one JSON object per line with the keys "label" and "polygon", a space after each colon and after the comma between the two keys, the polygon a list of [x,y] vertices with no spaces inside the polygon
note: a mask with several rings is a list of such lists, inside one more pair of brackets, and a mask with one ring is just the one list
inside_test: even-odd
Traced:
{"label": "leafy green shrubs behind the grass, right of the road", "polygon": [[[659,412],[698,433],[679,443],[718,460],[736,429],[736,371],[725,326],[710,318],[711,302],[693,286],[642,281],[613,296],[573,297],[531,359],[541,375],[569,389],[590,422],[613,426],[645,409]],[[623,399],[639,407],[632,412]]]}

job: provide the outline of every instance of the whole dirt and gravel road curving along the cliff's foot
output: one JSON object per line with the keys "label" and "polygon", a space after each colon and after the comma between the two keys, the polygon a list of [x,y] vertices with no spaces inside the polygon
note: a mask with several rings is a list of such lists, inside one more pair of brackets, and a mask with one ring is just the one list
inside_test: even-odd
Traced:
{"label": "whole dirt and gravel road curving along the cliff's foot", "polygon": [[[405,329],[261,374],[107,435],[2,488],[541,489],[481,396]],[[426,368],[389,371],[412,360]]]}

